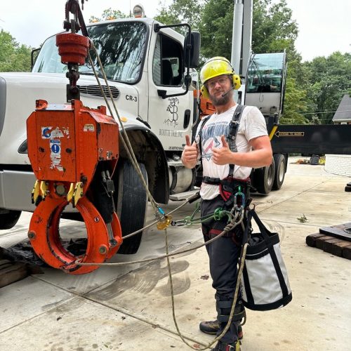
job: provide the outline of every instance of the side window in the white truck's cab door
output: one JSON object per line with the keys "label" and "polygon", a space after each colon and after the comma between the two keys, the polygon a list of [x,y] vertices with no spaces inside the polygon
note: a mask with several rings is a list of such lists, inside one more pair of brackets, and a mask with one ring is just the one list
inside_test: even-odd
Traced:
{"label": "side window in the white truck's cab door", "polygon": [[152,59],[154,84],[180,86],[183,84],[183,70],[183,47],[178,41],[159,33]]}

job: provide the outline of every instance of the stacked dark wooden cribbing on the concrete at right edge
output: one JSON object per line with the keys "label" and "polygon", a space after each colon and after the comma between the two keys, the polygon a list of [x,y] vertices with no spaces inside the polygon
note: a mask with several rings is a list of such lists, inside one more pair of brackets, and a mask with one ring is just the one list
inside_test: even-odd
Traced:
{"label": "stacked dark wooden cribbing on the concrete at right edge", "polygon": [[346,231],[350,227],[351,223],[346,223],[320,228],[319,233],[307,235],[306,244],[332,255],[351,260],[351,237]]}

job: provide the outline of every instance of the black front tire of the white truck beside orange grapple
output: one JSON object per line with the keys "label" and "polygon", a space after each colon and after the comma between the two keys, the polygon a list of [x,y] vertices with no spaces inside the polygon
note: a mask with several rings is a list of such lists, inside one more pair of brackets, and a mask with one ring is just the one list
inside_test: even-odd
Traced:
{"label": "black front tire of the white truck beside orange grapple", "polygon": [[[139,164],[147,183],[147,172],[144,164]],[[115,182],[114,202],[121,222],[122,237],[135,232],[145,224],[147,211],[147,193],[130,161],[124,160],[117,165],[118,177]],[[118,253],[136,253],[140,246],[143,232],[123,241]]]}

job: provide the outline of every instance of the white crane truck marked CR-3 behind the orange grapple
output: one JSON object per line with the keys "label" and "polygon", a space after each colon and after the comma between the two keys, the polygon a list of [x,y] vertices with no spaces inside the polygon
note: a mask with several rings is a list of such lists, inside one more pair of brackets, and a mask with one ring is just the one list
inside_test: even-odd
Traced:
{"label": "white crane truck marked CR-3 behind the orange grapple", "polygon": [[[187,41],[173,29],[179,25],[162,25],[140,16],[140,12],[143,8],[137,7],[138,17],[91,23],[87,29],[149,190],[158,203],[167,204],[170,199],[185,199],[194,190],[195,171],[185,168],[180,156],[185,134],[194,133],[198,121],[195,69],[200,39],[199,34],[192,33],[191,58],[187,60]],[[248,50],[250,46],[246,53]],[[101,77],[95,55],[92,62]],[[244,102],[245,93],[247,97],[251,95],[251,105],[257,105],[267,118],[272,115],[277,118],[283,108],[285,53],[254,55],[251,59],[246,55],[239,62],[239,72],[246,69],[248,74],[238,99]],[[270,72],[272,77],[263,77],[263,71]],[[32,72],[0,73],[0,229],[13,227],[21,211],[34,211],[30,193],[35,178],[28,158],[26,119],[39,98],[49,102],[65,100],[66,74],[67,65],[60,62],[55,36],[46,39],[40,48]],[[104,105],[88,61],[79,67],[79,74],[84,105]],[[106,93],[102,79],[101,85]],[[203,110],[211,113],[208,102],[201,103]],[[284,154],[274,154],[270,167],[258,168],[253,173],[253,186],[263,193],[270,192],[272,187],[279,189],[286,163]],[[113,181],[117,214],[126,235],[143,227],[147,194],[123,145],[119,146]],[[67,206],[62,216],[77,218],[77,212]],[[142,232],[126,239],[119,252],[135,253],[141,237]]]}

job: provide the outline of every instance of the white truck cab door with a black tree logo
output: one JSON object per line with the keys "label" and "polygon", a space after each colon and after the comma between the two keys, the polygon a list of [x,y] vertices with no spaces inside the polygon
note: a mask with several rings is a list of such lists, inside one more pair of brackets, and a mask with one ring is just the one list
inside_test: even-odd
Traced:
{"label": "white truck cab door with a black tree logo", "polygon": [[[152,50],[154,48],[154,50]],[[148,123],[159,137],[164,150],[183,150],[185,134],[191,132],[193,94],[161,98],[185,91],[183,37],[172,29],[154,33],[149,56]]]}

